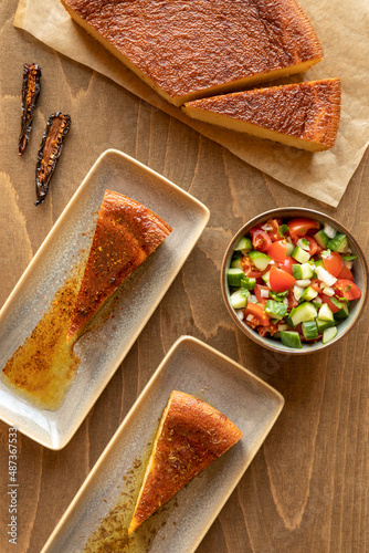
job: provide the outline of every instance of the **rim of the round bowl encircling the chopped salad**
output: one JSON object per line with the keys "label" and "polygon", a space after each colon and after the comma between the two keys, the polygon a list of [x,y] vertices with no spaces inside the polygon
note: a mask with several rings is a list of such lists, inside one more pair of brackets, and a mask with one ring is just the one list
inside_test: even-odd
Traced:
{"label": "rim of the round bowl encircling the chopped salad", "polygon": [[[309,219],[316,219],[321,222],[321,220],[326,222],[330,222],[337,230],[340,230],[345,234],[347,234],[350,243],[354,246],[356,253],[358,255],[358,260],[362,265],[362,272],[363,272],[363,286],[361,290],[361,298],[360,298],[360,305],[358,309],[358,312],[356,313],[355,317],[352,321],[348,324],[348,326],[341,332],[337,333],[337,336],[327,342],[326,344],[323,344],[321,342],[317,344],[314,347],[310,348],[302,348],[302,349],[294,349],[294,348],[284,348],[280,347],[277,344],[271,344],[268,341],[271,338],[265,338],[262,337],[255,332],[253,328],[250,328],[246,324],[244,324],[236,315],[235,311],[231,306],[229,302],[229,294],[228,294],[228,284],[226,284],[226,269],[229,268],[229,263],[231,260],[231,253],[233,252],[233,246],[235,242],[244,236],[249,229],[254,227],[255,225],[259,225],[260,222],[263,222],[264,220],[271,219],[273,217],[283,217],[283,218],[288,218],[288,216],[292,217],[304,217],[306,216]],[[365,259],[363,252],[361,250],[360,244],[357,242],[352,233],[339,221],[330,217],[329,215],[326,215],[321,211],[317,211],[316,209],[310,209],[310,208],[302,208],[302,207],[278,207],[274,209],[270,209],[267,211],[263,211],[262,213],[253,217],[250,219],[246,223],[244,223],[238,232],[233,236],[232,240],[230,241],[224,257],[222,261],[222,267],[221,267],[221,289],[222,289],[222,295],[223,295],[223,301],[225,303],[225,306],[235,322],[236,326],[246,335],[249,336],[253,342],[256,344],[266,347],[267,349],[275,352],[275,353],[282,353],[282,354],[291,354],[291,355],[307,355],[309,353],[316,353],[320,352],[321,349],[325,349],[326,347],[329,347],[330,345],[335,344],[338,340],[340,340],[342,336],[345,336],[352,327],[354,325],[358,322],[360,319],[360,315],[362,314],[363,307],[366,305],[367,299],[368,299],[368,264]]]}

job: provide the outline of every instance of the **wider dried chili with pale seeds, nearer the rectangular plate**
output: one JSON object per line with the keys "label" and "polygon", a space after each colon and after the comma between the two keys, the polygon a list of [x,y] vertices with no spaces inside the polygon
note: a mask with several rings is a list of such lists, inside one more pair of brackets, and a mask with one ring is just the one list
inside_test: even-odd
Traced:
{"label": "wider dried chili with pale seeds, nearer the rectangular plate", "polygon": [[48,195],[50,180],[55,170],[57,158],[62,153],[63,140],[70,128],[70,115],[56,112],[49,116],[35,167],[36,206],[40,206]]}

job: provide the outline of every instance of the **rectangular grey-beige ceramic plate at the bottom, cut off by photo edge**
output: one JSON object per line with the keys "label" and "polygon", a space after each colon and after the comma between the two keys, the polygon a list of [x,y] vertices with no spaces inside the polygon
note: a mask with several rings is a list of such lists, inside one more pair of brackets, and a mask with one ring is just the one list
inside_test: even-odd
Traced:
{"label": "rectangular grey-beige ceramic plate at the bottom, cut off by photo edge", "polygon": [[[125,486],[131,486],[130,469],[152,441],[161,411],[173,389],[214,406],[242,430],[243,438],[180,490],[167,510],[165,505],[162,513],[151,517],[160,521],[157,528],[147,520],[137,535],[133,534],[129,552],[190,553],[197,549],[273,427],[284,399],[229,357],[196,338],[182,336],[122,422],[42,553],[83,550],[87,538],[114,507],[118,493],[125,492]],[[126,483],[118,490],[117,484],[122,482]],[[138,493],[138,484],[136,488]],[[127,505],[126,511],[129,511],[125,517],[129,521],[134,501]],[[145,546],[145,525],[148,524],[151,524],[148,535],[151,539],[155,535],[150,547]]]}

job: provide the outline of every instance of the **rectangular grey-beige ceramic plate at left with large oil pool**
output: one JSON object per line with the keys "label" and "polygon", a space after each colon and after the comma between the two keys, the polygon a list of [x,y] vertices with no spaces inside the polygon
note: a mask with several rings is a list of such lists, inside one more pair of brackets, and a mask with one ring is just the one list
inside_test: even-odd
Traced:
{"label": "rectangular grey-beige ceramic plate at left with large oil pool", "polygon": [[[105,189],[122,192],[155,211],[173,231],[124,284],[125,293],[94,340],[78,341],[77,375],[55,411],[33,406],[0,379],[0,418],[35,441],[61,449],[105,388],[209,220],[209,210],[192,196],[117,150],[95,163],[0,312],[0,367],[31,334],[41,309],[72,270],[78,252],[88,251]],[[87,232],[87,233],[86,233]],[[127,284],[127,285],[126,285]],[[87,362],[88,359],[88,362]]]}

